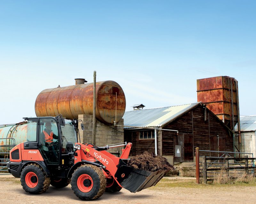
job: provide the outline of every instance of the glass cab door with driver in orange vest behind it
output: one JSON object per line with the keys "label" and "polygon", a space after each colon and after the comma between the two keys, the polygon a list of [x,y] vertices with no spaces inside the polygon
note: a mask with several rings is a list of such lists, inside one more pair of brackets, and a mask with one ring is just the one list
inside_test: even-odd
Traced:
{"label": "glass cab door with driver in orange vest behind it", "polygon": [[60,164],[60,134],[54,118],[39,118],[39,151],[48,165]]}

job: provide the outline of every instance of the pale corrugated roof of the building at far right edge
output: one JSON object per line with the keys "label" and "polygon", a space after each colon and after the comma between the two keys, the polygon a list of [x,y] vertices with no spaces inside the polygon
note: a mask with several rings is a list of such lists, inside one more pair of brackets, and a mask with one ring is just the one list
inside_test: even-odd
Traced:
{"label": "pale corrugated roof of the building at far right edge", "polygon": [[[241,132],[249,132],[256,130],[256,116],[240,116],[240,129]],[[237,124],[235,126],[237,132]]]}

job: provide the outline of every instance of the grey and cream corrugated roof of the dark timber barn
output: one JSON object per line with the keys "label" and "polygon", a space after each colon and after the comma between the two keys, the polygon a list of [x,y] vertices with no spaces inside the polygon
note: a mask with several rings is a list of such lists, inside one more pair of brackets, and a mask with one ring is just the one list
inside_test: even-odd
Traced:
{"label": "grey and cream corrugated roof of the dark timber barn", "polygon": [[124,113],[124,126],[159,127],[188,112],[200,104],[192,103],[180,106],[140,109]]}

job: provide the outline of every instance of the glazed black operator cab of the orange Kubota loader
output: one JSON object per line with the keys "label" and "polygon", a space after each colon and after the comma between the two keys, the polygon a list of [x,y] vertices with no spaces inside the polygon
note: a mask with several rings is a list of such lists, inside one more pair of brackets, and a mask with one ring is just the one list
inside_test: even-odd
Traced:
{"label": "glazed black operator cab of the orange Kubota loader", "polygon": [[38,149],[47,165],[62,165],[63,159],[68,160],[68,155],[73,154],[77,135],[72,120],[64,120],[62,116],[24,119],[28,141],[24,142],[24,148]]}

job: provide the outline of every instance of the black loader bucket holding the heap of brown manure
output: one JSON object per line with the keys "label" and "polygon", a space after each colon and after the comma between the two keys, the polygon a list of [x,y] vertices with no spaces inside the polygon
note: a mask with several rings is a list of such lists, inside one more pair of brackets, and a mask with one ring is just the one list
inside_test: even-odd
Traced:
{"label": "black loader bucket holding the heap of brown manure", "polygon": [[115,174],[120,185],[132,193],[139,192],[143,189],[155,186],[166,172],[169,170],[146,171],[135,169],[119,160],[119,165]]}

